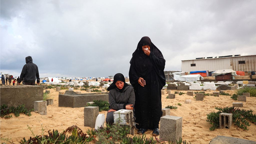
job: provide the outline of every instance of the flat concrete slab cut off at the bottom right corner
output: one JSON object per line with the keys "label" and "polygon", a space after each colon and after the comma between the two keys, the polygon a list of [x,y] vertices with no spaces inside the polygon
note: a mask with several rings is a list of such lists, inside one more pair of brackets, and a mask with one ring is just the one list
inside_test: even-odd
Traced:
{"label": "flat concrete slab cut off at the bottom right corner", "polygon": [[240,138],[233,138],[233,137],[225,137],[225,136],[217,136],[210,141],[209,144],[256,144],[255,141],[240,139]]}

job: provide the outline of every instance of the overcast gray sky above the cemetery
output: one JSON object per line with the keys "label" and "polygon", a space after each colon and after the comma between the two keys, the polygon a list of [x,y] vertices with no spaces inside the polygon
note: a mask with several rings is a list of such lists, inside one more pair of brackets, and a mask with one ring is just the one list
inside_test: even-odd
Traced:
{"label": "overcast gray sky above the cemetery", "polygon": [[1,0],[0,71],[40,77],[128,76],[141,37],[166,60],[256,54],[256,1]]}

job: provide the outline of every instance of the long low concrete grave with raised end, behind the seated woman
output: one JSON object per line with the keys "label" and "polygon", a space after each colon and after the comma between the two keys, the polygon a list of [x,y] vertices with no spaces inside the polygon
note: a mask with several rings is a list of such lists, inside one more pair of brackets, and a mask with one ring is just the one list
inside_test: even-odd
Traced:
{"label": "long low concrete grave with raised end, behind the seated woman", "polygon": [[108,92],[77,94],[74,91],[67,90],[65,94],[59,95],[59,107],[84,107],[87,102],[91,102],[93,100],[109,101]]}

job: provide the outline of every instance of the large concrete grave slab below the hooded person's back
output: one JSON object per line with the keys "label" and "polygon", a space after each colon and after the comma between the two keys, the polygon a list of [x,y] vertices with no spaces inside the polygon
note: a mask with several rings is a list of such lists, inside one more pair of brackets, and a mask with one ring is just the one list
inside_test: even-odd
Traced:
{"label": "large concrete grave slab below the hooded person's back", "polygon": [[8,107],[25,104],[27,109],[34,108],[34,101],[43,100],[44,87],[42,86],[1,86],[0,103]]}

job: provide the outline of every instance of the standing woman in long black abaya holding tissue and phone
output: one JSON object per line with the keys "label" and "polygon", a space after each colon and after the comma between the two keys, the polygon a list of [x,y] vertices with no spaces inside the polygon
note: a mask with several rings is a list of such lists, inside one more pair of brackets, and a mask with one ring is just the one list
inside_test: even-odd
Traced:
{"label": "standing woman in long black abaya holding tissue and phone", "polygon": [[158,125],[163,113],[161,89],[166,84],[165,59],[149,37],[142,37],[130,64],[129,78],[135,92],[135,124],[139,129],[138,134],[143,135],[152,129],[152,135],[158,136]]}

